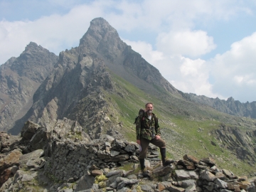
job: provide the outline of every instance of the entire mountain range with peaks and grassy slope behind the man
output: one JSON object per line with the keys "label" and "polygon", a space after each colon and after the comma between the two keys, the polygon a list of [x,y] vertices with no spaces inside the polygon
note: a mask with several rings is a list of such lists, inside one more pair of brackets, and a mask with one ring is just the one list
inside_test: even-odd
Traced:
{"label": "entire mountain range with peaks and grassy slope behind the man", "polygon": [[170,156],[189,150],[218,156],[220,164],[242,159],[242,169],[256,162],[256,102],[177,90],[104,18],[93,19],[80,45],[59,56],[29,43],[0,66],[0,96],[0,129],[11,134],[28,119],[48,129],[68,118],[91,139],[110,134],[135,140],[134,118],[154,102]]}

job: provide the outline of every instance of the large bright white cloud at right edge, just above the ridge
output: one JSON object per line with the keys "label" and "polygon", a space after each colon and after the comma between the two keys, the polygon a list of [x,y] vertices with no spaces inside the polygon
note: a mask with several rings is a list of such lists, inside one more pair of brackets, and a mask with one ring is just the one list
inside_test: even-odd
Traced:
{"label": "large bright white cloud at right edge, just above the ridge", "polygon": [[[246,102],[256,100],[256,33],[231,45],[209,63],[215,83],[213,91]],[[250,91],[250,92],[249,92]],[[245,100],[245,95],[247,100]]]}

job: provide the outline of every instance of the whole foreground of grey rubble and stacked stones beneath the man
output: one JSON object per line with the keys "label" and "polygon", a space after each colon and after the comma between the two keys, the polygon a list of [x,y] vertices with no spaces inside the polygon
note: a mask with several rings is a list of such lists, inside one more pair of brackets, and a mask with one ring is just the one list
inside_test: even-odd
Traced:
{"label": "whole foreground of grey rubble and stacked stones beneath the man", "polygon": [[[58,132],[60,125],[63,133]],[[1,191],[255,191],[256,177],[236,176],[232,171],[219,169],[211,157],[197,159],[186,154],[183,159],[169,166],[161,166],[156,146],[150,145],[146,167],[149,177],[139,171],[139,145],[101,135],[99,139],[79,140],[62,137],[68,132],[78,132],[77,122],[63,119],[56,124],[57,132],[48,132],[43,149],[34,149],[26,154],[31,142],[16,146],[2,154],[0,181]],[[23,127],[21,141],[31,140],[43,127],[27,122]],[[26,134],[29,133],[29,134]],[[1,133],[6,137],[4,132]],[[56,137],[58,136],[58,137]],[[9,137],[9,139],[11,136]],[[8,139],[8,138],[6,138]],[[52,153],[46,155],[51,146]],[[12,145],[10,143],[10,145]],[[23,146],[22,146],[23,145]],[[19,153],[15,158],[11,154]],[[12,159],[10,161],[9,159]],[[18,161],[17,161],[18,159]],[[9,163],[11,162],[11,163]],[[1,166],[3,167],[3,166]],[[151,169],[150,169],[151,168]]]}

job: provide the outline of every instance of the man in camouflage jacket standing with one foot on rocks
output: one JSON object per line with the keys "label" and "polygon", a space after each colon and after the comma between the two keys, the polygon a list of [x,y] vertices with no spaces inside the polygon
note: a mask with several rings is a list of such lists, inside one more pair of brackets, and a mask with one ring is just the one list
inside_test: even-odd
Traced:
{"label": "man in camouflage jacket standing with one foot on rocks", "polygon": [[171,160],[166,160],[166,144],[164,140],[161,139],[158,118],[153,113],[153,109],[153,103],[146,103],[145,112],[140,114],[136,121],[137,144],[141,146],[141,151],[139,153],[139,163],[142,169],[142,174],[144,176],[148,176],[145,169],[145,158],[149,143],[154,144],[160,148],[163,166],[167,166],[174,162]]}

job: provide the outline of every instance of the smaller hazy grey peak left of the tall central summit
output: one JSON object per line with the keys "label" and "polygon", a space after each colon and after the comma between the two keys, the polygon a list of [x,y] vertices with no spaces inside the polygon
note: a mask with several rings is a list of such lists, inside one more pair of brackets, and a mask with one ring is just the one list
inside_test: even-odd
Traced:
{"label": "smaller hazy grey peak left of the tall central summit", "polygon": [[31,42],[18,58],[10,58],[0,66],[0,130],[8,131],[26,114],[34,92],[57,60],[54,53]]}

